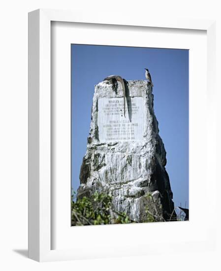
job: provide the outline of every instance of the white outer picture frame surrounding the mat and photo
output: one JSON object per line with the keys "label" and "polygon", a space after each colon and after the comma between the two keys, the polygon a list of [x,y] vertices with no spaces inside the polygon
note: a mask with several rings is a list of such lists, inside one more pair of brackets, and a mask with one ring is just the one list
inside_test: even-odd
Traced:
{"label": "white outer picture frame surrounding the mat and photo", "polygon": [[[209,157],[215,157],[216,146],[216,85],[215,85],[215,37],[216,27],[215,21],[212,20],[179,20],[176,18],[171,19],[146,19],[137,18],[126,19],[107,17],[94,18],[90,12],[78,14],[75,11],[59,11],[59,10],[36,10],[29,13],[29,258],[36,261],[58,261],[58,260],[74,260],[85,258],[101,258],[101,257],[116,257],[116,256],[129,256],[129,255],[147,255],[151,253],[162,253],[167,250],[173,252],[177,249],[182,251],[199,249],[206,251],[215,247],[216,236],[215,220],[205,225],[204,233],[198,240],[193,241],[179,241],[169,242],[160,240],[151,242],[144,238],[142,242],[128,244],[109,244],[105,243],[104,239],[100,238],[99,245],[97,246],[80,246],[80,239],[77,240],[75,247],[63,247],[60,249],[52,249],[54,234],[52,233],[52,206],[53,202],[53,189],[51,177],[51,23],[52,22],[73,22],[79,23],[87,30],[87,24],[100,24],[110,25],[114,28],[118,26],[128,26],[136,30],[136,28],[162,28],[163,29],[177,29],[181,30],[201,30],[206,33],[207,42],[207,56],[206,65],[207,70],[207,85],[206,92],[203,95],[204,102],[208,106],[206,126],[206,140],[207,140],[207,161],[204,165],[205,169],[210,172],[210,183],[205,179],[206,185],[210,185],[215,191],[216,189],[216,163],[211,161]],[[205,67],[204,67],[205,68]],[[190,74],[191,76],[191,74]],[[203,104],[203,105],[205,105]],[[200,105],[198,106],[200,110]],[[202,110],[202,108],[201,108]],[[190,112],[193,113],[193,112]],[[195,112],[196,114],[196,112]],[[197,114],[195,115],[197,117]],[[199,117],[199,116],[198,116]],[[200,117],[199,117],[200,118]],[[201,117],[202,118],[202,117]],[[195,119],[197,120],[197,119]],[[202,122],[202,119],[199,119]],[[208,143],[210,142],[210,148]],[[212,143],[211,143],[212,142]],[[199,155],[199,154],[198,154]],[[196,156],[197,158],[197,156]],[[191,167],[191,161],[190,161]],[[212,173],[211,173],[212,172]],[[205,177],[206,178],[206,177]],[[190,192],[191,193],[191,192]],[[216,205],[215,197],[211,199],[210,207]],[[211,215],[215,213],[215,208],[211,209]],[[199,219],[199,218],[197,218]],[[200,221],[198,221],[200,222]],[[185,226],[186,224],[186,226]],[[191,227],[185,223],[182,230],[187,228],[191,231]],[[179,224],[180,225],[180,224]],[[190,225],[190,224],[189,224]],[[128,231],[128,226],[133,225],[110,225],[110,226],[95,226],[93,231],[95,234],[102,232],[107,235],[108,231],[117,233],[118,235]],[[136,225],[139,227],[139,232],[145,232],[147,224]],[[149,227],[161,227],[154,223]],[[191,226],[191,225],[190,225]],[[118,228],[117,228],[118,227]],[[165,225],[168,230],[169,225]],[[180,227],[180,226],[178,226]],[[80,234],[88,232],[90,236],[90,227],[82,227],[79,231]],[[105,228],[105,230],[103,230]],[[181,229],[181,228],[180,228]],[[105,231],[105,232],[104,232]],[[84,232],[84,233],[83,233]],[[205,232],[207,232],[206,235]],[[59,233],[61,235],[62,233]],[[142,236],[141,236],[142,237]],[[140,238],[140,237],[139,237]],[[103,243],[102,243],[103,242]],[[159,244],[160,247],[159,248]],[[93,248],[93,249],[92,249]]]}

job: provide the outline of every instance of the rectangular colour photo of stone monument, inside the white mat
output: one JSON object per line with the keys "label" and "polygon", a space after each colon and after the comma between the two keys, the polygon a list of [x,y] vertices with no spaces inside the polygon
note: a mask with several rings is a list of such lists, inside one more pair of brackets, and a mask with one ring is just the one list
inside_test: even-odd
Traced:
{"label": "rectangular colour photo of stone monument, inside the white mat", "polygon": [[189,220],[188,75],[188,49],[71,44],[71,226]]}

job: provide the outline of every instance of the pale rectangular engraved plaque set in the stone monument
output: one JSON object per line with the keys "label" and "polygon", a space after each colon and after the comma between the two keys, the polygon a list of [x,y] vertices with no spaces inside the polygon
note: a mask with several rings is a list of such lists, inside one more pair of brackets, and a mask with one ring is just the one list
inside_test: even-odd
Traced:
{"label": "pale rectangular engraved plaque set in the stone monument", "polygon": [[144,99],[142,97],[98,99],[98,139],[100,142],[138,141],[144,132]]}

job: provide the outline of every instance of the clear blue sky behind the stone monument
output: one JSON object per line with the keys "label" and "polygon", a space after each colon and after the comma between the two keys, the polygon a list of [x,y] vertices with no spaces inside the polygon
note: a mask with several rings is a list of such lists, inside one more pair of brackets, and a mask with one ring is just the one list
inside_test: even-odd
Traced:
{"label": "clear blue sky behind the stone monument", "polygon": [[76,191],[90,131],[95,84],[111,74],[154,84],[154,110],[163,140],[175,206],[189,207],[189,50],[71,45],[72,188]]}

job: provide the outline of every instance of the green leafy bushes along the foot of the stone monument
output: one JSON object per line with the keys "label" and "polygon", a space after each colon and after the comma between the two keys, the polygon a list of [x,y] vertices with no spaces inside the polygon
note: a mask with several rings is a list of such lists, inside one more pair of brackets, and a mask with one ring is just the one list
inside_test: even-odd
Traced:
{"label": "green leafy bushes along the foot of the stone monument", "polygon": [[[106,193],[95,192],[90,198],[83,197],[77,201],[74,201],[74,197],[75,193],[71,199],[71,226],[137,223],[131,220],[126,213],[116,211],[112,197]],[[159,199],[155,199],[148,193],[145,201],[144,222],[165,221]]]}

